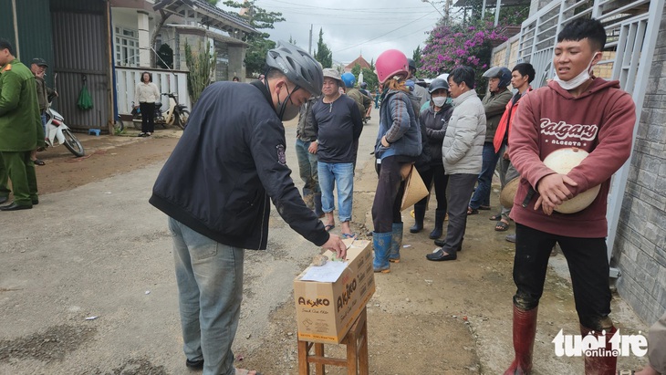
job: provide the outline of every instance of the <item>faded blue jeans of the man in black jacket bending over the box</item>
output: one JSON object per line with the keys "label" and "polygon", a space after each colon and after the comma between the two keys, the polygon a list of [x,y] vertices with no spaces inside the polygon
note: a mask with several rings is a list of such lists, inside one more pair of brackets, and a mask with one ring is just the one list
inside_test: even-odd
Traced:
{"label": "faded blue jeans of the man in black jacket bending over the box", "polygon": [[169,229],[185,357],[203,359],[203,375],[233,375],[244,249],[217,243],[171,217]]}

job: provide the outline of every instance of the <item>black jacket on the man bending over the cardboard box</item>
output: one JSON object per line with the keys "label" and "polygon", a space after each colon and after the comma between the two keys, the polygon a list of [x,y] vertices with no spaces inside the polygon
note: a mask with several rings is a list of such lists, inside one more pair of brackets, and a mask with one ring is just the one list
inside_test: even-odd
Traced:
{"label": "black jacket on the man bending over the cardboard box", "polygon": [[150,203],[213,240],[264,250],[270,197],[298,234],[324,245],[286,166],[285,128],[263,83],[213,83],[152,188]]}

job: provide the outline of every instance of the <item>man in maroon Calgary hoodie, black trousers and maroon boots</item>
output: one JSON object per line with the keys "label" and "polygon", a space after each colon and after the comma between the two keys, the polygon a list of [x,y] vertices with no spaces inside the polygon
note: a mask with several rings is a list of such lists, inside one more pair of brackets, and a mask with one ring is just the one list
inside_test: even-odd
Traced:
{"label": "man in maroon Calgary hoodie, black trousers and maroon boots", "polygon": [[[532,369],[536,310],[544,289],[553,245],[567,257],[574,300],[583,335],[606,333],[607,347],[616,328],[609,318],[609,259],[606,200],[610,177],[627,161],[636,123],[630,95],[618,81],[590,77],[601,59],[606,32],[598,20],[567,24],[557,36],[553,64],[557,78],[521,99],[509,136],[511,161],[522,176],[511,217],[516,223],[514,281],[515,360],[505,374]],[[567,174],[543,160],[564,148],[588,151]],[[600,185],[596,199],[574,214],[560,214],[559,204]],[[586,374],[615,374],[617,357],[586,357]]]}

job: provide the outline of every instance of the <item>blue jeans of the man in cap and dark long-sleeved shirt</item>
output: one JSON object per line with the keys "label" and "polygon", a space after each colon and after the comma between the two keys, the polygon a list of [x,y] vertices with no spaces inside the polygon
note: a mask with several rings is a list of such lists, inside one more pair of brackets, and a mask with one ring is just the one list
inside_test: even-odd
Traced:
{"label": "blue jeans of the man in cap and dark long-sleeved shirt", "polygon": [[325,213],[335,210],[333,187],[338,186],[338,217],[340,222],[351,221],[351,204],[354,200],[354,163],[317,162],[321,208]]}

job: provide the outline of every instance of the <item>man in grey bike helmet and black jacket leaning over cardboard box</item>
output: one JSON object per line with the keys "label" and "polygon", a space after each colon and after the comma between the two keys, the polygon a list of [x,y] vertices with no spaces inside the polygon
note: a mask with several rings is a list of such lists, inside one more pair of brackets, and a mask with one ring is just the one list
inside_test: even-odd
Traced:
{"label": "man in grey bike helmet and black jacket leaning over cardboard box", "polygon": [[150,199],[169,216],[185,365],[204,375],[256,374],[235,372],[231,348],[245,249],[266,248],[269,198],[298,234],[338,257],[347,253],[307,208],[286,166],[281,121],[321,93],[321,68],[285,42],[268,51],[266,66],[263,82],[203,90]]}

